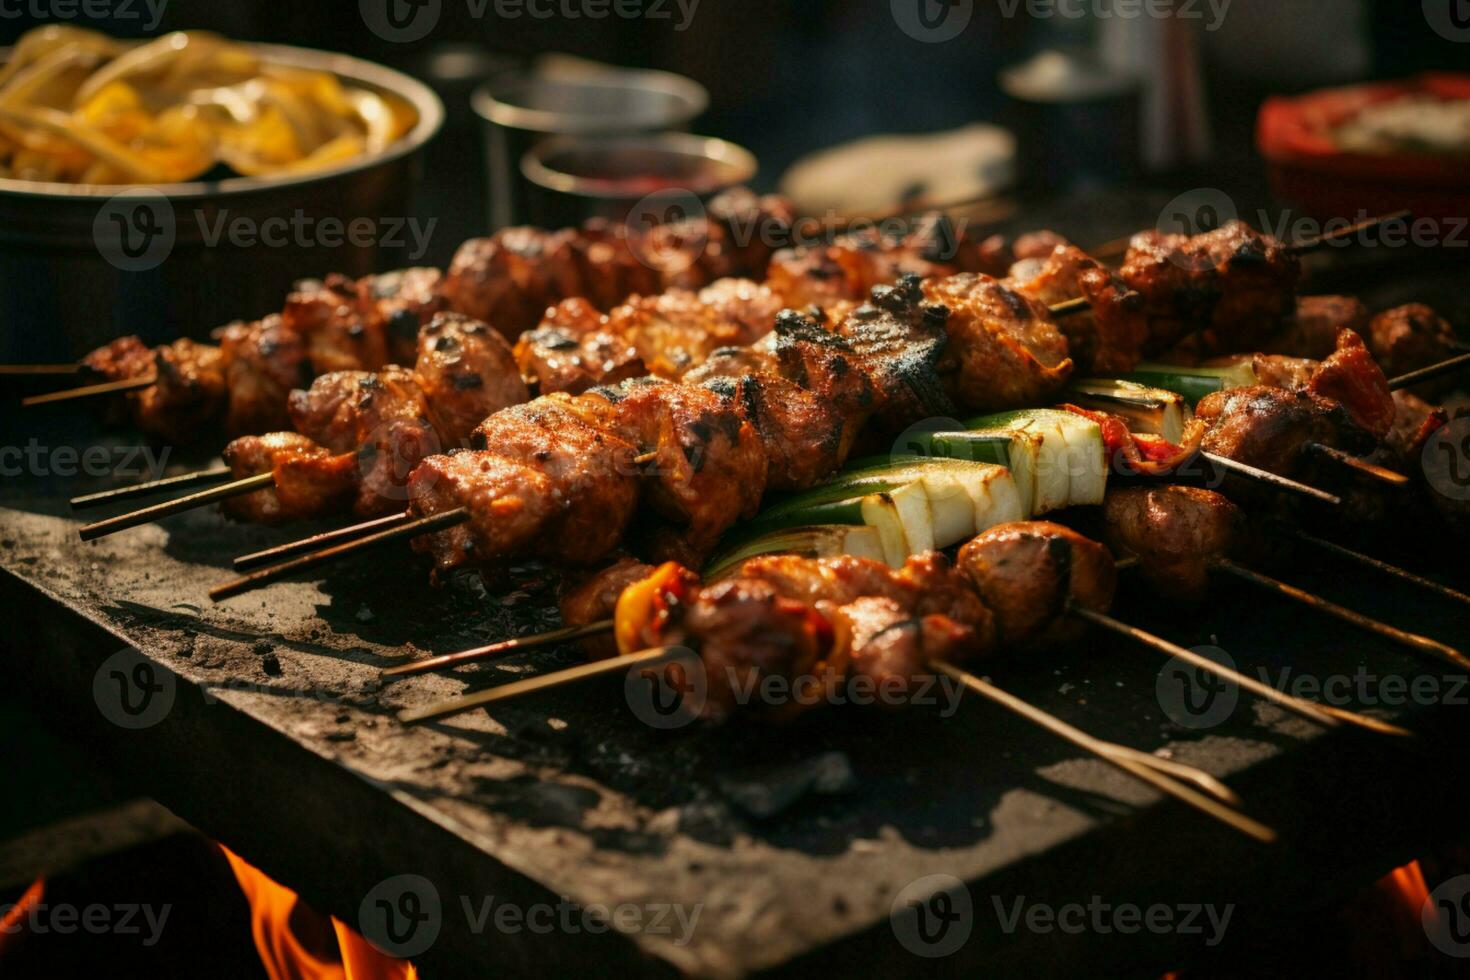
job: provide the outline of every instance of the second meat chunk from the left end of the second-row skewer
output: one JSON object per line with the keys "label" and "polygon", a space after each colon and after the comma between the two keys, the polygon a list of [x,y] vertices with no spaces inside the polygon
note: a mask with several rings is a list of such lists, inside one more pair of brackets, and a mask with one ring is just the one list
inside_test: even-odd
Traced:
{"label": "second meat chunk from the left end of the second-row skewer", "polygon": [[334,453],[356,453],[362,480],[353,508],[362,517],[401,511],[409,475],[442,444],[413,372],[332,372],[291,392],[297,432]]}

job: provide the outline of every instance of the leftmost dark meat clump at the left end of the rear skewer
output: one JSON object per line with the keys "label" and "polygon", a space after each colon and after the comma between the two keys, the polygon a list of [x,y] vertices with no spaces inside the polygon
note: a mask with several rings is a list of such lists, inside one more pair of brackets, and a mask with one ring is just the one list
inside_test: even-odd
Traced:
{"label": "leftmost dark meat clump at the left end of the rear skewer", "polygon": [[88,354],[82,367],[107,381],[153,375],[151,385],[126,398],[138,429],[165,442],[197,439],[225,410],[225,357],[209,344],[181,338],[150,350],[123,336]]}

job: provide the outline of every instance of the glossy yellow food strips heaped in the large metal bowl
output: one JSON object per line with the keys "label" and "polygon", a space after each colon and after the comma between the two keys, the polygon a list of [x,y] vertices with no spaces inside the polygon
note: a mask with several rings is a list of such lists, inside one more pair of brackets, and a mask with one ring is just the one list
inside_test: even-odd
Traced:
{"label": "glossy yellow food strips heaped in the large metal bowl", "polygon": [[0,66],[0,178],[176,184],[322,170],[417,122],[395,96],[200,31],[144,44],[49,25]]}

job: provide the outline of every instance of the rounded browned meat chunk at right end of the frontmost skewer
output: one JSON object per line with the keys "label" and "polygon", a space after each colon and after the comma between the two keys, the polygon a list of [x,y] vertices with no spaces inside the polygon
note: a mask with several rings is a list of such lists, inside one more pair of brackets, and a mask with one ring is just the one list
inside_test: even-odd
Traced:
{"label": "rounded browned meat chunk at right end of the frontmost skewer", "polygon": [[1067,608],[1105,611],[1117,585],[1107,548],[1044,520],[991,527],[960,548],[957,563],[1007,648],[1075,639],[1082,624]]}

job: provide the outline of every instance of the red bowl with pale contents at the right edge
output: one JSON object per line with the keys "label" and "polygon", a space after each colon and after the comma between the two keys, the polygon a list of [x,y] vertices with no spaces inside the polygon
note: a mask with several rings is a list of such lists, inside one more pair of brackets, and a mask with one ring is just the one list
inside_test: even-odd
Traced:
{"label": "red bowl with pale contents at the right edge", "polygon": [[1335,144],[1336,125],[1369,106],[1410,96],[1470,100],[1470,75],[1429,73],[1266,100],[1255,144],[1270,165],[1276,195],[1320,220],[1401,207],[1416,217],[1470,216],[1470,156],[1348,153]]}

